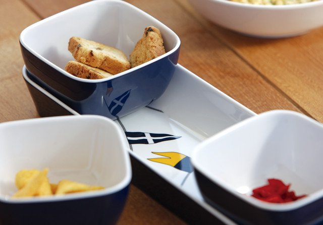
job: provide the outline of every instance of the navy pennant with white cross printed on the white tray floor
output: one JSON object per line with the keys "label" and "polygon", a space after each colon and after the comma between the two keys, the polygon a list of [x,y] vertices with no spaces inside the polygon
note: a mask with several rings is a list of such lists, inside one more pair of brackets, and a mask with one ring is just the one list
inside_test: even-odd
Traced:
{"label": "navy pennant with white cross printed on the white tray floor", "polygon": [[129,144],[156,144],[163,141],[175,140],[180,137],[170,134],[154,134],[144,132],[125,132]]}

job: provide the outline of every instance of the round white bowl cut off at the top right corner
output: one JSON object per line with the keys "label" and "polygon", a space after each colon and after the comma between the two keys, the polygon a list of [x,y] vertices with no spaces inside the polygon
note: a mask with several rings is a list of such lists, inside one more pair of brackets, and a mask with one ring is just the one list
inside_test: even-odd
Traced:
{"label": "round white bowl cut off at the top right corner", "polygon": [[323,25],[323,1],[265,6],[229,0],[190,0],[210,21],[230,30],[257,37],[290,37]]}

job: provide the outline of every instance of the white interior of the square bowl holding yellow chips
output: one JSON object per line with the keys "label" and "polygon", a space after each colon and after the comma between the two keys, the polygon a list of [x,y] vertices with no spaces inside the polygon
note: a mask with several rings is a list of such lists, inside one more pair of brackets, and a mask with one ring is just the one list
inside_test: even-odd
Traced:
{"label": "white interior of the square bowl holding yellow chips", "polygon": [[99,116],[67,116],[0,126],[0,198],[16,191],[19,170],[48,167],[50,183],[69,179],[116,191],[130,182],[122,132]]}

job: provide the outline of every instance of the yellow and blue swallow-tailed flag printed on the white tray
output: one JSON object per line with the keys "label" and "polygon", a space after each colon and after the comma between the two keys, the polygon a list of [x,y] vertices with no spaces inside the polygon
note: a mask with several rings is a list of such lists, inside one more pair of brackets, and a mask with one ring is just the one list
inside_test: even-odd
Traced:
{"label": "yellow and blue swallow-tailed flag printed on the white tray", "polygon": [[156,155],[165,156],[162,158],[148,158],[150,161],[167,164],[187,173],[193,172],[191,158],[178,152],[152,152]]}

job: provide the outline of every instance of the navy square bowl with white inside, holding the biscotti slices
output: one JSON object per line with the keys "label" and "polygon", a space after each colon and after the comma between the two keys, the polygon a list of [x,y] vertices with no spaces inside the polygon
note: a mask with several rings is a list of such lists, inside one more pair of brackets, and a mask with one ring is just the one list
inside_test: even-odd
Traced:
{"label": "navy square bowl with white inside, holding the biscotti slices", "polygon": [[[157,27],[166,53],[109,78],[88,80],[64,70],[73,60],[70,37],[79,36],[121,49],[128,56],[144,28]],[[180,39],[166,25],[118,0],[97,0],[39,21],[22,31],[20,45],[28,71],[41,86],[80,114],[110,119],[146,106],[171,82],[178,62]]]}

